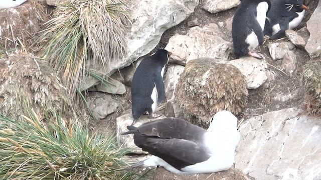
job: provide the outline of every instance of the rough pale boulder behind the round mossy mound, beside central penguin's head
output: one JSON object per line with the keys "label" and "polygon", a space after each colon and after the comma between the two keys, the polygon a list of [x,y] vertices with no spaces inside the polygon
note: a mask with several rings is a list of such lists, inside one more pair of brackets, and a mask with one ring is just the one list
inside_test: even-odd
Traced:
{"label": "rough pale boulder behind the round mossy mound, beside central penguin's head", "polygon": [[174,35],[165,49],[173,52],[170,62],[185,65],[198,57],[227,60],[232,54],[232,42],[220,37],[222,32],[215,23],[192,27],[186,35]]}

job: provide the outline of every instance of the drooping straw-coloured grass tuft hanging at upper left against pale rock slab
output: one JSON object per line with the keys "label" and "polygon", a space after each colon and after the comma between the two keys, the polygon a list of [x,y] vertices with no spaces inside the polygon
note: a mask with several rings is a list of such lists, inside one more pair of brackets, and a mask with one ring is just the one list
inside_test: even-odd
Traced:
{"label": "drooping straw-coloured grass tuft hanging at upper left against pale rock slab", "polygon": [[88,69],[104,74],[112,59],[126,53],[129,23],[123,0],[70,0],[57,7],[38,42],[72,98]]}

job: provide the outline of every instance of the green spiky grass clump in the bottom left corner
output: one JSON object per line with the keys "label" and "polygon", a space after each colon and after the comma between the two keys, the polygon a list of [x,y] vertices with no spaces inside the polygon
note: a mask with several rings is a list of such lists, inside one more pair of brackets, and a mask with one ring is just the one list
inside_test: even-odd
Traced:
{"label": "green spiky grass clump in the bottom left corner", "polygon": [[55,115],[48,127],[33,110],[25,120],[0,115],[0,179],[142,178],[124,168],[129,149],[114,137],[90,135],[76,120],[67,127]]}

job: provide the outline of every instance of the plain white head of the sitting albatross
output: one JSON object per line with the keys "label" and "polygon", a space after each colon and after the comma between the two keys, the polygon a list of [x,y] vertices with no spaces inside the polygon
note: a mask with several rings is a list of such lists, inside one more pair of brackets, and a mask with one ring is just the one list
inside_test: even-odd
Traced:
{"label": "plain white head of the sitting albatross", "polygon": [[220,110],[213,115],[207,131],[231,131],[237,127],[237,117],[228,110]]}

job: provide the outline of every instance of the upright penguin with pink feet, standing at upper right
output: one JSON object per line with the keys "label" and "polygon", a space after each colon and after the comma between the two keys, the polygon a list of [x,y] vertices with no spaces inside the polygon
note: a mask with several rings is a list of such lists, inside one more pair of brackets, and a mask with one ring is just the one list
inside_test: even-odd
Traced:
{"label": "upright penguin with pink feet, standing at upper right", "polygon": [[266,12],[270,7],[269,0],[242,0],[232,22],[233,48],[237,57],[249,54],[262,58],[254,49],[263,43]]}

